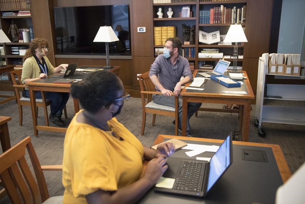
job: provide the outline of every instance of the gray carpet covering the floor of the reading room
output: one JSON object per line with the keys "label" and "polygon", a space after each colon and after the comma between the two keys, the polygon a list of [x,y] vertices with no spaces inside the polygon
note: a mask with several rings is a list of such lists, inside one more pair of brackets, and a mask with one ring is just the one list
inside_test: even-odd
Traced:
{"label": "gray carpet covering the floor of the reading room", "polygon": [[[10,92],[0,92],[0,95]],[[0,98],[1,99],[1,98]],[[204,107],[221,108],[220,104],[203,104]],[[173,117],[157,116],[155,126],[151,126],[152,115],[147,114],[144,135],[141,136],[142,104],[140,98],[130,98],[124,103],[122,112],[117,116],[118,121],[125,125],[143,145],[151,146],[158,134],[174,135]],[[305,127],[301,125],[263,123],[267,132],[265,138],[257,135],[257,128],[253,125],[255,106],[252,105],[249,142],[279,144],[285,156],[290,171],[295,172],[305,161]],[[74,116],[73,101],[67,103],[68,117]],[[61,164],[63,158],[64,133],[39,131],[34,136],[30,107],[23,108],[23,126],[19,126],[18,106],[14,101],[0,105],[0,115],[12,117],[9,121],[9,134],[12,146],[26,136],[30,136],[41,165]],[[64,119],[66,124],[70,119]],[[45,124],[43,109],[38,111],[38,124]],[[198,117],[190,119],[193,137],[224,139],[227,135],[238,131],[238,115],[231,113],[199,112]],[[52,125],[50,123],[50,125]],[[240,137],[240,135],[237,135]],[[0,147],[0,152],[2,149]],[[44,172],[50,196],[63,195],[61,172]],[[0,199],[0,203],[9,203],[7,196]]]}

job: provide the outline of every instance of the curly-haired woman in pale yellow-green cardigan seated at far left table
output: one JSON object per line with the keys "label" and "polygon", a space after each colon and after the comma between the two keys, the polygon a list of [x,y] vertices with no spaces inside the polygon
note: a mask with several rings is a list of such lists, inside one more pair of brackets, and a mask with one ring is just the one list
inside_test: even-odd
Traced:
{"label": "curly-haired woman in pale yellow-green cardigan seated at far left table", "polygon": [[[54,68],[46,55],[48,54],[48,41],[45,39],[35,38],[30,47],[27,49],[23,57],[23,69],[21,75],[21,82],[23,84],[46,78],[51,74],[58,73],[60,71],[65,71],[67,69],[67,64],[61,64]],[[25,95],[30,97],[28,88],[25,90]],[[36,98],[42,98],[41,92],[36,93]],[[63,109],[69,99],[69,93],[61,92],[46,92],[46,99],[51,102],[51,113],[49,120],[55,123],[59,127],[64,127],[64,122],[61,119],[63,114]]]}

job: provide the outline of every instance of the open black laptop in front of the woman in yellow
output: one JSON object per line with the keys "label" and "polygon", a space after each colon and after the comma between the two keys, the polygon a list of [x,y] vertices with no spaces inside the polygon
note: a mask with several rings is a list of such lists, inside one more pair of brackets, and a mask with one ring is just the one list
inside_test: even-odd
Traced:
{"label": "open black laptop in front of the woman in yellow", "polygon": [[168,169],[164,172],[163,177],[175,179],[174,185],[172,188],[155,187],[155,191],[203,198],[232,162],[232,138],[229,135],[210,162],[177,157],[168,158]]}

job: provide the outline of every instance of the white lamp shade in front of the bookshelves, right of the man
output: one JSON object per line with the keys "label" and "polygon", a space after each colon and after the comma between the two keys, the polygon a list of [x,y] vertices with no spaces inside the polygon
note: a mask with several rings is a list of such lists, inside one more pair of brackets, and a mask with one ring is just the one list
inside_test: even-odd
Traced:
{"label": "white lamp shade in front of the bookshelves, right of the man", "polygon": [[228,33],[224,38],[224,43],[228,43],[228,42],[231,43],[248,42],[241,24],[235,24],[230,26]]}

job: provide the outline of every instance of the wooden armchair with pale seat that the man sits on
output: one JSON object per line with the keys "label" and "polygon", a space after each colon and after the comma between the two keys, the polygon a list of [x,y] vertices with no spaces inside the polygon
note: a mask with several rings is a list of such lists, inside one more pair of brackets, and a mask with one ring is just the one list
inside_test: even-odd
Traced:
{"label": "wooden armchair with pale seat that the man sits on", "polygon": [[175,135],[178,135],[178,97],[175,97],[175,108],[156,104],[152,100],[153,94],[161,94],[155,91],[155,85],[148,77],[149,72],[145,72],[138,76],[141,87],[142,98],[142,130],[141,135],[144,135],[146,113],[152,113],[152,126],[155,125],[156,114],[175,117]]}

